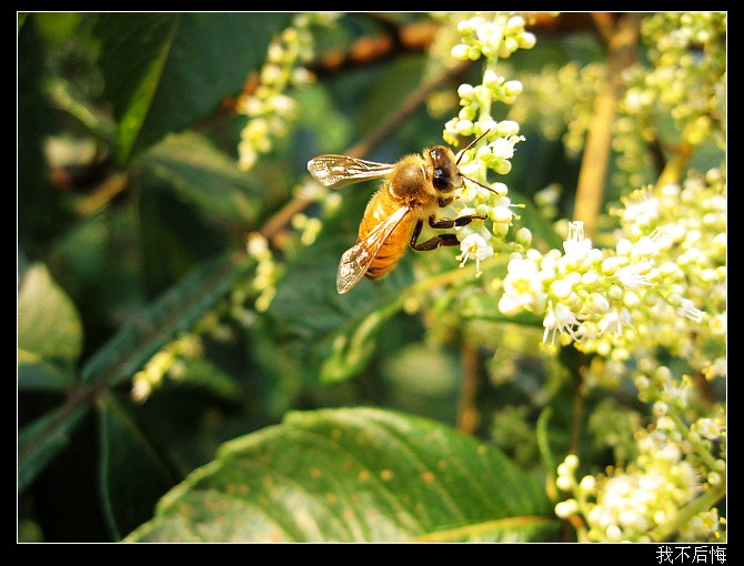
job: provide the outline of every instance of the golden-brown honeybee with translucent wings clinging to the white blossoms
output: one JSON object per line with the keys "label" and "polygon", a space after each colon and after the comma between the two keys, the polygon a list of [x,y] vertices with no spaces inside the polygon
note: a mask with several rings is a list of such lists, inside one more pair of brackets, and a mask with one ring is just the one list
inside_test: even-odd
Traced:
{"label": "golden-brown honeybee with translucent wings clinging to the white blossoms", "polygon": [[458,166],[462,154],[487,133],[467,145],[459,159],[450,148],[436,145],[421,154],[405,155],[394,164],[333,154],[308,162],[313,178],[333,189],[384,178],[364,210],[356,243],[341,256],[336,275],[339,293],[351,291],[364,275],[373,280],[386,275],[403,256],[406,245],[419,252],[460,245],[455,234],[438,234],[419,243],[424,221],[434,229],[450,229],[485,220],[474,214],[455,219],[436,219],[435,214],[454,201],[455,191],[465,179],[495,192],[463,175]]}

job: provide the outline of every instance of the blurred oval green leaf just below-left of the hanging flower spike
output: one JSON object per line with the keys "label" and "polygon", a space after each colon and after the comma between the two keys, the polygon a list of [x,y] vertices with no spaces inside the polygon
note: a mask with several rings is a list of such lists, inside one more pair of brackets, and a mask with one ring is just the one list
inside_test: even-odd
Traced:
{"label": "blurred oval green leaf just below-left of the hanging flower spike", "polygon": [[262,201],[237,161],[194,132],[168,135],[140,162],[199,210],[238,225],[253,224]]}

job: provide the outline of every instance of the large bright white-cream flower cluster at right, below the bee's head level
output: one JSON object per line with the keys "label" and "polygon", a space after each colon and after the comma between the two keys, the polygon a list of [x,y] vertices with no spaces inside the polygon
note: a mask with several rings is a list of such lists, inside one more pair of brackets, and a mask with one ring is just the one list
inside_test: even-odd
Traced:
{"label": "large bright white-cream flower cluster at right, below the bee's head level", "polygon": [[725,321],[726,200],[720,173],[708,181],[627,199],[615,250],[593,247],[573,222],[563,252],[512,254],[499,309],[544,314],[551,345],[574,341],[616,361],[656,345],[692,355],[690,324],[705,312]]}

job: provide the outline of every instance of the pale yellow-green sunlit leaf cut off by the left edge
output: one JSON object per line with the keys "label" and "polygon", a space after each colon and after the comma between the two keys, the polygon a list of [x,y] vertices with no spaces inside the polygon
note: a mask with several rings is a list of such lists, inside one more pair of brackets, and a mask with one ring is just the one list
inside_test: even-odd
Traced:
{"label": "pale yellow-green sunlit leaf cut off by the left edge", "polygon": [[40,263],[29,267],[18,292],[18,350],[27,360],[72,364],[82,348],[82,326],[72,301]]}

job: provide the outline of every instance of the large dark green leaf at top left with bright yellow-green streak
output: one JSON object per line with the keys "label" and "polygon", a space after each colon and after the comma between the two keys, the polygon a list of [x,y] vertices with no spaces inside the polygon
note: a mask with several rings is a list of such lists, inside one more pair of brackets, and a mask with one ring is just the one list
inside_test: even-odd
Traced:
{"label": "large dark green leaf at top left with bright yellow-green streak", "polygon": [[290,13],[105,13],[95,28],[118,158],[203,120],[258,70]]}

